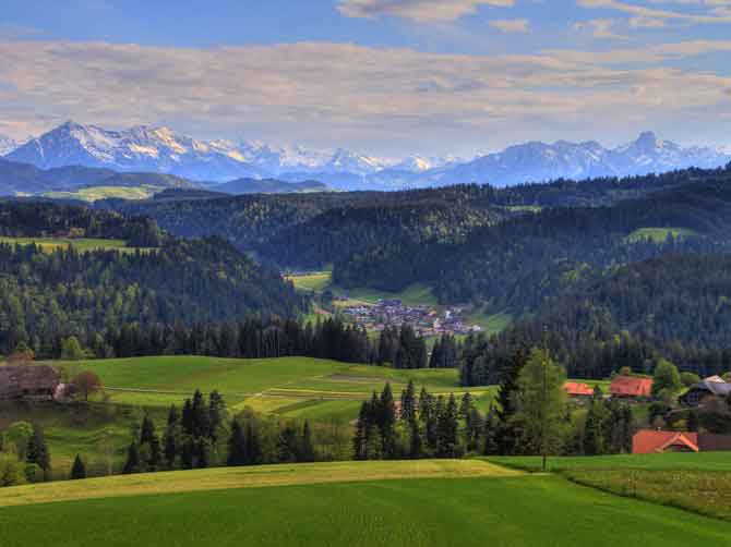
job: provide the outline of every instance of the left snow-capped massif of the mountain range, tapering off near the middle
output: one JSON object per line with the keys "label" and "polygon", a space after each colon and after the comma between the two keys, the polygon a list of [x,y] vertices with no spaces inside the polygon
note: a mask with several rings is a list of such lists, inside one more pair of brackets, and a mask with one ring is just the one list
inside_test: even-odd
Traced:
{"label": "left snow-capped massif of the mountain range, tapering off near the middle", "polygon": [[388,162],[348,150],[273,147],[257,142],[199,141],[168,127],[109,131],[67,122],[11,151],[8,159],[41,169],[79,165],[154,171],[202,181],[266,178],[284,172],[367,174]]}

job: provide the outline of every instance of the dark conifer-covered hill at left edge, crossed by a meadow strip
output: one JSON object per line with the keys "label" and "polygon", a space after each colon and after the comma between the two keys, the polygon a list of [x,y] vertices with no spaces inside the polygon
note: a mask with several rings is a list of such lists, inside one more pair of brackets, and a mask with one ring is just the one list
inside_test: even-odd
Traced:
{"label": "dark conifer-covered hill at left edge, crossed by a meadow strip", "polygon": [[[40,356],[57,357],[61,341],[72,335],[92,347],[96,336],[117,333],[130,324],[190,326],[292,317],[303,309],[302,299],[277,271],[220,239],[180,240],[163,233],[157,246],[136,250],[93,250],[81,246],[84,240],[71,239],[74,245],[52,251],[7,239],[59,231],[65,236],[133,238],[149,222],[157,230],[148,219],[117,214],[1,204],[0,353],[22,341]],[[103,241],[97,244],[104,246]]]}

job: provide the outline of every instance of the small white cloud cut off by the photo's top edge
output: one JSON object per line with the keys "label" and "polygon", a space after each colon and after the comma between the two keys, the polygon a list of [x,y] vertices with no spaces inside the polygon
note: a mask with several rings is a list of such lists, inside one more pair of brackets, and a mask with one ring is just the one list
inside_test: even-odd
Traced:
{"label": "small white cloud cut off by the photo's top edge", "polygon": [[476,13],[480,5],[512,8],[515,0],[340,0],[340,13],[348,17],[391,15],[420,23],[454,21]]}

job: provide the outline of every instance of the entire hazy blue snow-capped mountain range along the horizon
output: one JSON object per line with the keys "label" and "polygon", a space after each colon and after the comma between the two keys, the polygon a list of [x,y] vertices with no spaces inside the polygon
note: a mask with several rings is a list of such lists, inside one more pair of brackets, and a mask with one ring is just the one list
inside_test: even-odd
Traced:
{"label": "entire hazy blue snow-capped mountain range along the horizon", "polygon": [[[14,149],[13,149],[14,148]],[[12,151],[11,151],[12,150]],[[169,173],[212,184],[235,179],[316,180],[338,190],[398,190],[456,183],[508,186],[553,179],[642,175],[687,167],[715,168],[731,150],[681,147],[646,132],[626,145],[530,142],[469,161],[411,156],[402,160],[346,149],[312,150],[233,141],[199,141],[167,127],[109,131],[67,122],[16,146],[0,138],[0,155],[41,169],[67,166]]]}

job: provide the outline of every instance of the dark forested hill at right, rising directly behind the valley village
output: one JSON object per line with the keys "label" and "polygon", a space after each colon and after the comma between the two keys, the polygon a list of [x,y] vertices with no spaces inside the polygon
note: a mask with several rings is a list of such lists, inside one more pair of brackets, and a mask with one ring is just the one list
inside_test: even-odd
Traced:
{"label": "dark forested hill at right, rising directly behind the valley village", "polygon": [[[637,232],[647,228],[659,238]],[[550,208],[481,227],[459,244],[374,246],[337,262],[333,274],[344,287],[396,291],[426,282],[443,302],[482,302],[520,314],[594,279],[597,269],[723,251],[730,229],[731,171],[712,172],[611,207]]]}

